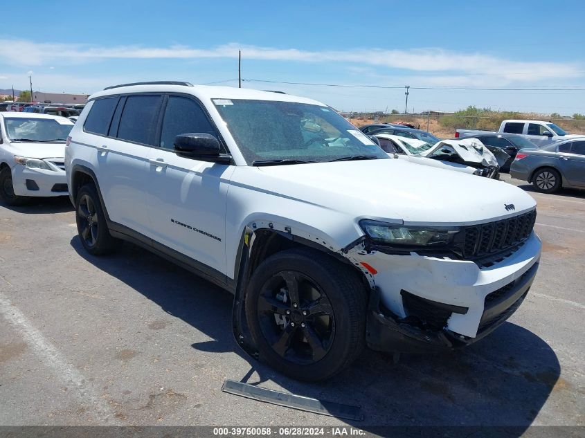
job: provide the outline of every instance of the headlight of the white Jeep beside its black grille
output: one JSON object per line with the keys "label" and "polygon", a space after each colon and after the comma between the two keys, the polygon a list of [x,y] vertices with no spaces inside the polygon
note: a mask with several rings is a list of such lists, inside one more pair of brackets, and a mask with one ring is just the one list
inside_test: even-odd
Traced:
{"label": "headlight of the white Jeep beside its black grille", "polygon": [[458,227],[403,226],[367,219],[359,221],[359,226],[372,241],[398,246],[444,246],[459,231]]}

